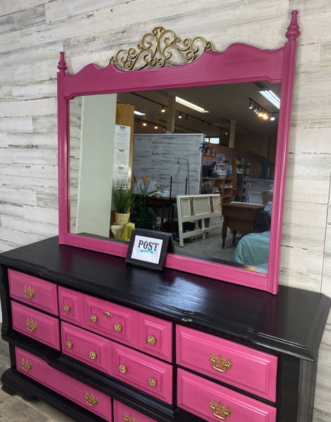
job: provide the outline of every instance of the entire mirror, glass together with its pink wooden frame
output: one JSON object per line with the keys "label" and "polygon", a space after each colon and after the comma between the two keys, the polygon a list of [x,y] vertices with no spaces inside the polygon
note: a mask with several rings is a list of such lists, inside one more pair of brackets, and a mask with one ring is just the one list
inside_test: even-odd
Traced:
{"label": "entire mirror, glass together with its pink wooden frame", "polygon": [[[287,35],[297,28],[295,18],[292,13]],[[62,54],[60,243],[126,255],[127,242],[109,237],[112,180],[121,167],[133,187],[132,170],[138,186],[145,176],[147,191],[153,191],[146,201],[157,218],[155,226],[145,228],[174,233],[175,251],[167,255],[166,267],[277,293],[295,42],[292,37],[273,52],[233,44],[224,53],[205,52],[179,67],[124,72],[89,65],[77,75],[66,75]],[[286,75],[285,68],[292,73]],[[259,94],[267,89],[280,97],[280,110]],[[176,103],[176,97],[208,113]],[[121,166],[115,148],[123,141],[118,140],[117,104],[129,106],[132,121]],[[254,108],[268,112],[268,120],[257,118]],[[190,210],[197,210],[190,218],[183,213],[188,194],[197,196],[190,199]],[[207,206],[201,194],[219,198],[209,202],[212,218],[199,218]],[[244,211],[249,227],[236,225]],[[263,262],[247,261],[254,243]]]}

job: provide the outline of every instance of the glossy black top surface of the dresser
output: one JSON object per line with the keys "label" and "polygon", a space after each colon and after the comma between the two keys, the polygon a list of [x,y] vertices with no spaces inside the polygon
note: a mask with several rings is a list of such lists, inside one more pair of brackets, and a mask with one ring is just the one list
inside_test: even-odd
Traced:
{"label": "glossy black top surface of the dresser", "polygon": [[[0,254],[0,263],[247,345],[318,355],[331,299],[280,286],[278,295],[174,269],[155,271],[53,237]],[[207,265],[207,263],[206,263]]]}

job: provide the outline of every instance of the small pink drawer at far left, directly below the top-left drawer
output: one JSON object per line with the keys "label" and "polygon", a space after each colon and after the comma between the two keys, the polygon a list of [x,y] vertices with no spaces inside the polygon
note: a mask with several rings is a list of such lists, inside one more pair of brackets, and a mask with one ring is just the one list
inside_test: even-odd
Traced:
{"label": "small pink drawer at far left, directly below the top-left drawer", "polygon": [[53,316],[11,301],[13,329],[60,350],[59,321]]}

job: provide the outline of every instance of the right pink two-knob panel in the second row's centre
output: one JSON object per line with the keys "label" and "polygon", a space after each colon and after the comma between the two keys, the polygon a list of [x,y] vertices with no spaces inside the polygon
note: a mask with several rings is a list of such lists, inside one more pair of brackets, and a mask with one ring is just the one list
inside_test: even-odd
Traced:
{"label": "right pink two-knob panel in the second row's centre", "polygon": [[117,343],[112,350],[112,376],[171,404],[171,365]]}

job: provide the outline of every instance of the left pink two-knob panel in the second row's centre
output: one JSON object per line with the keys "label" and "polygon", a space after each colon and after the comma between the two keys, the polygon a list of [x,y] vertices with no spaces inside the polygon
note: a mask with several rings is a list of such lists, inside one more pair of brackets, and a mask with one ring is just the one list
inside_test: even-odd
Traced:
{"label": "left pink two-knob panel in the second row's centre", "polygon": [[109,373],[112,359],[111,340],[66,322],[61,322],[61,337],[63,353]]}

